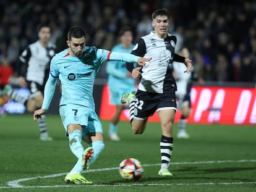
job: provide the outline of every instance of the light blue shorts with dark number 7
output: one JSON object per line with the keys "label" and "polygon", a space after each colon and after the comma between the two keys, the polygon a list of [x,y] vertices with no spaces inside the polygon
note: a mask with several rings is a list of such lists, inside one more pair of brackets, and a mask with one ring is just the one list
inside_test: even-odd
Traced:
{"label": "light blue shorts with dark number 7", "polygon": [[78,124],[82,126],[82,137],[88,133],[103,133],[103,128],[96,112],[85,106],[75,104],[67,104],[59,107],[59,115],[66,130],[70,124]]}

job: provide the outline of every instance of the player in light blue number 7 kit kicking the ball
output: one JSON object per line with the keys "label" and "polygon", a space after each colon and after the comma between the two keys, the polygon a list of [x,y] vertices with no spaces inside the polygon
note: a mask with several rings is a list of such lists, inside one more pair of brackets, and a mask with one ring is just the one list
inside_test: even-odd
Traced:
{"label": "player in light blue number 7 kit kicking the ball", "polygon": [[[145,59],[128,53],[111,52],[85,46],[85,32],[80,27],[70,28],[67,33],[68,49],[51,60],[49,78],[45,85],[43,106],[33,114],[38,120],[45,114],[53,99],[57,78],[61,81],[62,99],[59,114],[69,137],[69,146],[78,161],[66,175],[66,183],[92,184],[81,173],[88,169],[104,149],[103,128],[95,112],[93,84],[101,65],[106,61],[137,62],[145,66]],[[83,148],[82,140],[90,147]]]}

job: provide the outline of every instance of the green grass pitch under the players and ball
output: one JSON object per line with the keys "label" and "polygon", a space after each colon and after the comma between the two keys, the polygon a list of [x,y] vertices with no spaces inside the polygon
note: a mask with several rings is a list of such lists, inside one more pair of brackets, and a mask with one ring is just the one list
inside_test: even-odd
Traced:
{"label": "green grass pitch under the players and ball", "polygon": [[[64,177],[77,161],[69,149],[59,115],[46,117],[53,141],[40,141],[32,115],[0,117],[0,191],[254,191],[256,188],[256,127],[245,125],[187,125],[189,140],[177,139],[174,125],[172,178],[158,176],[160,169],[159,123],[148,123],[145,133],[134,135],[129,122],[119,123],[121,141],[108,139],[105,150],[85,178],[88,185],[67,185]],[[83,143],[85,148],[87,144]],[[117,167],[127,157],[142,162],[139,182],[126,182]],[[241,162],[240,160],[246,161]],[[186,163],[187,162],[187,163]],[[54,175],[58,174],[59,175]],[[46,177],[46,178],[45,178]],[[14,188],[7,182],[23,178]],[[28,187],[28,188],[24,188]]]}

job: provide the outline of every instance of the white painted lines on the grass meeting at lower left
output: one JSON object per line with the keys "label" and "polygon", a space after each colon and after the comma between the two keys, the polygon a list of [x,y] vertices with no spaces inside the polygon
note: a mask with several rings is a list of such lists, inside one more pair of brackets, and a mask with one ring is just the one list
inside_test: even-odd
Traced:
{"label": "white painted lines on the grass meeting at lower left", "polygon": [[[172,162],[172,165],[186,165],[186,164],[221,164],[221,163],[234,163],[234,162],[256,162],[256,159],[242,159],[242,160],[227,160],[227,161],[195,161],[195,162]],[[142,164],[143,167],[149,166],[156,166],[161,164]],[[108,171],[118,169],[118,167],[111,167],[111,168],[104,168],[104,169],[91,169],[85,172],[101,172],[101,171]],[[80,185],[53,185],[53,186],[23,186],[20,185],[20,182],[25,182],[28,180],[34,180],[37,178],[51,178],[51,177],[59,177],[62,175],[66,175],[67,173],[57,173],[53,175],[46,175],[46,176],[38,176],[38,177],[30,177],[30,178],[21,178],[18,180],[12,180],[7,182],[8,186],[0,186],[0,188],[54,188],[54,187],[69,187],[69,186],[80,186]],[[255,184],[256,182],[234,182],[234,183],[172,183],[172,184],[163,184],[163,185],[242,185],[242,184]],[[125,185],[87,185],[87,186],[161,186],[162,184],[125,184]]]}

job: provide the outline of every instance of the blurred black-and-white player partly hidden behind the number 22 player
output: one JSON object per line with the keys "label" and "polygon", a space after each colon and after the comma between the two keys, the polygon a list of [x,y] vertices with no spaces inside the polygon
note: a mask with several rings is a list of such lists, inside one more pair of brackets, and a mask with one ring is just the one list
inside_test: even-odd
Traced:
{"label": "blurred black-and-white player partly hidden behind the number 22 player", "polygon": [[[178,52],[180,56],[189,58],[189,49],[181,48]],[[173,77],[176,80],[177,91],[177,109],[181,111],[181,119],[179,120],[179,131],[177,133],[177,138],[189,138],[186,132],[186,118],[190,115],[190,90],[192,88],[192,80],[198,80],[200,84],[203,80],[198,79],[197,74],[194,73],[192,68],[191,73],[184,73],[187,67],[179,64],[179,62],[173,62]]]}

